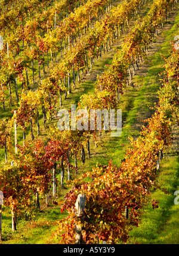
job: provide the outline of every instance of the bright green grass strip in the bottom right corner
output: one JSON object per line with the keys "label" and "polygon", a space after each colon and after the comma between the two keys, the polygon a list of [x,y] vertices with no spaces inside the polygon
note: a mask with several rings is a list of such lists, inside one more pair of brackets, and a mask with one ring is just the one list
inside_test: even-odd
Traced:
{"label": "bright green grass strip in the bottom right corner", "polygon": [[159,202],[153,209],[152,203],[144,208],[141,223],[130,233],[129,243],[179,243],[179,205],[174,203],[174,192],[179,189],[179,162],[177,156],[166,156],[161,164],[159,184],[168,191],[157,189],[150,199]]}

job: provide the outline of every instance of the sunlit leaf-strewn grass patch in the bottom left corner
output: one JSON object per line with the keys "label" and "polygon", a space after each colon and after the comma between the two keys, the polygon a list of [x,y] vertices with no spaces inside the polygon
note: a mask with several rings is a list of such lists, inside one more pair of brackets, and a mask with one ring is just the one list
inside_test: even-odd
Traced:
{"label": "sunlit leaf-strewn grass patch in the bottom left corner", "polygon": [[11,212],[6,210],[5,214],[2,214],[3,243],[42,244],[48,242],[55,230],[55,226],[50,223],[66,217],[66,212],[61,214],[60,205],[53,205],[52,201],[49,206],[45,206],[45,202],[42,202],[41,200],[41,211],[32,220],[18,219],[15,232],[11,231]]}

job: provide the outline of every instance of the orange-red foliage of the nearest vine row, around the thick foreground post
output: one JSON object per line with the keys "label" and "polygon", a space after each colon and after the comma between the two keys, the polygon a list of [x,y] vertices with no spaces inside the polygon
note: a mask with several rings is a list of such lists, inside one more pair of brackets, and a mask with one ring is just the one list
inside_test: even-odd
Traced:
{"label": "orange-red foliage of the nearest vine row, around the thick foreground post", "polygon": [[[66,195],[61,211],[67,209],[69,217],[58,221],[54,239],[59,243],[75,243],[75,202],[79,193],[87,196],[84,210],[84,243],[126,242],[128,231],[137,226],[140,209],[150,195],[152,188],[160,188],[155,182],[156,161],[162,159],[163,152],[172,142],[171,126],[178,122],[178,70],[173,69],[173,60],[179,54],[172,51],[166,60],[162,86],[159,90],[159,103],[149,125],[142,127],[137,140],[131,143],[121,167],[97,164],[92,172],[87,172],[73,181],[73,188]],[[172,75],[171,75],[172,72]],[[86,179],[90,181],[86,181]],[[153,209],[158,202],[153,199]],[[125,214],[128,209],[128,217]]]}

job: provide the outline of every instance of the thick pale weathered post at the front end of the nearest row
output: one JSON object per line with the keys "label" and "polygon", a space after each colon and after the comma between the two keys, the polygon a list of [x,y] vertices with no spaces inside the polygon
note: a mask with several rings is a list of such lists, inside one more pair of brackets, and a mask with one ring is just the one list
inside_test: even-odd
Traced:
{"label": "thick pale weathered post at the front end of the nearest row", "polygon": [[85,209],[85,202],[86,202],[86,196],[79,194],[78,198],[76,199],[75,207],[76,207],[76,217],[78,219],[78,222],[76,223],[75,227],[75,238],[76,242],[75,244],[82,244],[84,243],[83,237],[82,237],[82,230],[84,227],[84,209]]}

